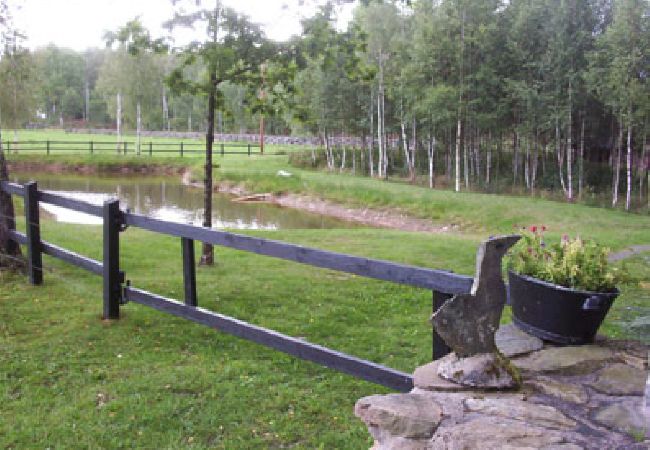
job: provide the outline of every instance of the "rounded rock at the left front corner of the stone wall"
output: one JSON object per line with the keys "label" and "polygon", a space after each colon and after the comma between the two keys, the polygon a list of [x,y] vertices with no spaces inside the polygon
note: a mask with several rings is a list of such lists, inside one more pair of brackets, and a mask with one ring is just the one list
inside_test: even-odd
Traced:
{"label": "rounded rock at the left front corner of the stone wall", "polygon": [[364,397],[357,401],[354,414],[378,440],[381,440],[381,432],[415,439],[430,438],[442,420],[440,405],[418,394]]}

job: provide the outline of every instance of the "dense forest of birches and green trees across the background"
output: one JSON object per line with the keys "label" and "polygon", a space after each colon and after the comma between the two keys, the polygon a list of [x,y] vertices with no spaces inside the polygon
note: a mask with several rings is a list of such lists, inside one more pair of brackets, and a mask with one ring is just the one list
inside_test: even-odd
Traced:
{"label": "dense forest of birches and green trees across the background", "polygon": [[281,43],[219,1],[171,18],[170,30],[205,23],[183,47],[137,19],[85,52],[5,34],[1,125],[256,133],[263,121],[320,138],[296,164],[647,202],[647,0],[366,0],[345,30],[336,3]]}

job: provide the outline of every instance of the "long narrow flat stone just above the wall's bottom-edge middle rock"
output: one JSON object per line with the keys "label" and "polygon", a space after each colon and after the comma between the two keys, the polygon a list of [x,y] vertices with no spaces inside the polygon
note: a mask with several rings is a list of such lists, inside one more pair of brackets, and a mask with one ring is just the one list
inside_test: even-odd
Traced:
{"label": "long narrow flat stone just above the wall's bottom-edge middle rock", "polygon": [[574,420],[552,406],[538,405],[515,398],[468,398],[464,404],[469,412],[506,417],[546,428],[568,430],[577,425]]}

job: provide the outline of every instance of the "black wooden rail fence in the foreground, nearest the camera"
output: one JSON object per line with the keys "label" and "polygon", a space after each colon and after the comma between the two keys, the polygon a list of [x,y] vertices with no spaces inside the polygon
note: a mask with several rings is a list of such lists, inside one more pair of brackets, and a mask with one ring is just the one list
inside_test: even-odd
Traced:
{"label": "black wooden rail fence in the foreground, nearest the camera", "polygon": [[[42,192],[38,190],[35,182],[25,185],[1,182],[0,190],[24,199],[26,232],[12,230],[11,238],[27,247],[29,278],[32,284],[38,285],[43,281],[42,254],[46,254],[103,277],[105,319],[119,319],[120,308],[127,302],[139,303],[398,391],[406,392],[412,389],[411,375],[199,307],[196,296],[194,241],[431,290],[434,311],[449,296],[468,293],[473,282],[471,277],[442,270],[166,222],[122,211],[118,200],[110,200],[99,206]],[[39,230],[39,203],[103,218],[103,261],[96,261],[43,241]],[[125,274],[120,270],[120,233],[128,227],[181,239],[185,292],[183,302],[138,289],[126,280]],[[448,352],[448,347],[434,331],[433,358],[440,358]]]}

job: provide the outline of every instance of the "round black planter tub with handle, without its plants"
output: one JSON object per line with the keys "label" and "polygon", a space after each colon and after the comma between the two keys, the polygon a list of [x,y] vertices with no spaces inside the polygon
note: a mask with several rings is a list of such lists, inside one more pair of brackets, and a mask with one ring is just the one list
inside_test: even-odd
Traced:
{"label": "round black planter tub with handle, without its plants", "polygon": [[579,291],[513,272],[508,279],[515,325],[533,336],[565,345],[593,342],[619,294],[618,290]]}

